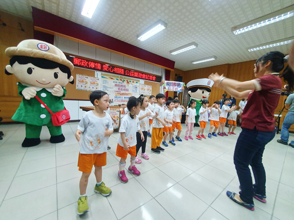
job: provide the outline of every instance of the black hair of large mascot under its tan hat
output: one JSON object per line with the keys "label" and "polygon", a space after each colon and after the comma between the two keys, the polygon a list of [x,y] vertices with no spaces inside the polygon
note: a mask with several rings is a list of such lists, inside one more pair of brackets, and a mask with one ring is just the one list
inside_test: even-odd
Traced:
{"label": "black hair of large mascot under its tan hat", "polygon": [[[58,64],[54,61],[46,60],[44,58],[35,58],[35,57],[27,57],[27,56],[13,56],[9,61],[10,66],[13,66],[15,64],[15,62],[18,62],[21,65],[32,64],[32,65],[38,66],[42,69],[55,69],[58,67],[63,73],[67,73],[68,79],[72,76],[72,72],[69,67],[62,65],[62,64]],[[6,69],[5,69],[5,74],[12,75],[12,73],[8,72]],[[72,81],[70,83],[73,84],[74,81]]]}

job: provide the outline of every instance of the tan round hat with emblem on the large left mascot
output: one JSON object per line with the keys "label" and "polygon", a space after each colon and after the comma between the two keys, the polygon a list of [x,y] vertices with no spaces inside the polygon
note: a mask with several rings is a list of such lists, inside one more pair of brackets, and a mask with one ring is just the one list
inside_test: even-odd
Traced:
{"label": "tan round hat with emblem on the large left mascot", "polygon": [[73,70],[73,64],[66,59],[66,56],[60,49],[52,44],[39,40],[31,39],[22,41],[17,46],[8,47],[5,50],[5,54],[9,58],[12,58],[13,56],[44,58],[67,66],[71,71]]}

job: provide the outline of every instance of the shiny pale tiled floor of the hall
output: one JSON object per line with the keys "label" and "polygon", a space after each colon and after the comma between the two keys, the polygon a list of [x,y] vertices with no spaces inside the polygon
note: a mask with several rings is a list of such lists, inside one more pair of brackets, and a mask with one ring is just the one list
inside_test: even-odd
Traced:
{"label": "shiny pale tiled floor of the hall", "polygon": [[[77,123],[62,127],[65,142],[49,143],[49,132],[44,127],[39,146],[22,148],[25,126],[0,126],[5,133],[0,141],[1,220],[293,219],[294,149],[278,144],[279,134],[267,145],[263,159],[268,202],[255,200],[255,211],[251,212],[225,194],[226,190],[239,192],[233,164],[238,135],[176,141],[175,146],[169,145],[161,154],[150,152],[148,138],[150,159],[136,165],[140,176],[126,172],[129,181],[123,184],[117,177],[117,132],[109,140],[111,150],[102,178],[113,193],[107,198],[95,194],[96,179],[92,174],[87,189],[90,212],[79,217],[76,201],[81,173],[77,168],[79,143],[74,137]],[[236,132],[240,131],[237,128]],[[196,132],[195,128],[194,136]]]}

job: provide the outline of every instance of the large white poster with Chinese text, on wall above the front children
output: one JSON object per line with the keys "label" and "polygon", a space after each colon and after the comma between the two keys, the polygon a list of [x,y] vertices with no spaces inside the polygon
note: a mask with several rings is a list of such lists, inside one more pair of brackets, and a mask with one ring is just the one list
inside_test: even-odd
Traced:
{"label": "large white poster with Chinese text, on wall above the front children", "polygon": [[129,97],[139,97],[139,82],[101,76],[101,90],[109,95],[110,105],[126,104]]}

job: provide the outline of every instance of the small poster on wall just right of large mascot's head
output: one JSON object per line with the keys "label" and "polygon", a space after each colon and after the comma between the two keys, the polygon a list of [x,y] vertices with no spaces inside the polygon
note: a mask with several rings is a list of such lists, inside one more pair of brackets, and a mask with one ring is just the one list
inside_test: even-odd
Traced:
{"label": "small poster on wall just right of large mascot's head", "polygon": [[77,90],[84,90],[84,91],[99,90],[99,78],[76,74],[75,88]]}

